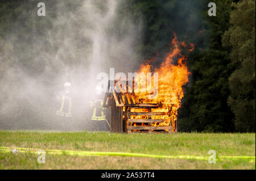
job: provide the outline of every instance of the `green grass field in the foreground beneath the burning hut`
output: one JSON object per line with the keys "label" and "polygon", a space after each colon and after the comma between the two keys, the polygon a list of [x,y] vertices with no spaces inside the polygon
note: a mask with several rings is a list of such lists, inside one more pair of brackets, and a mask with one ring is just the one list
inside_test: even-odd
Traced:
{"label": "green grass field in the foreground beneath the burning hut", "polygon": [[[118,134],[109,132],[0,131],[0,146],[36,150],[118,151],[155,155],[196,155],[209,157],[254,156],[255,133]],[[39,164],[37,154],[2,153],[0,169],[255,169],[247,159],[207,160],[121,156],[80,156],[46,154]]]}

